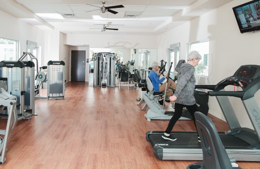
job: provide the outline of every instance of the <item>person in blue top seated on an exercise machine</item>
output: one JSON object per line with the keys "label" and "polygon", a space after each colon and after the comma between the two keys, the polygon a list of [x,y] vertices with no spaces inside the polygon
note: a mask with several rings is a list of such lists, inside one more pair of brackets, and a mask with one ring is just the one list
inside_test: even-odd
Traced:
{"label": "person in blue top seated on an exercise machine", "polygon": [[[164,84],[161,84],[161,83],[168,77],[168,73],[166,73],[163,78],[159,79],[159,77],[161,76],[161,73],[159,73],[159,74],[156,73],[160,69],[159,63],[158,62],[153,62],[151,67],[152,67],[152,70],[150,71],[148,77],[151,79],[151,81],[153,83],[154,91],[155,92],[163,92],[163,91],[165,91],[166,83],[164,83]],[[168,84],[167,84],[167,90],[166,90],[166,95],[168,97],[173,95],[173,91],[171,89],[169,89],[170,86],[174,90],[177,87],[177,85],[173,82],[173,80],[169,79]]]}

